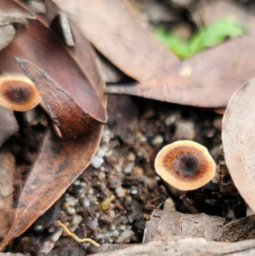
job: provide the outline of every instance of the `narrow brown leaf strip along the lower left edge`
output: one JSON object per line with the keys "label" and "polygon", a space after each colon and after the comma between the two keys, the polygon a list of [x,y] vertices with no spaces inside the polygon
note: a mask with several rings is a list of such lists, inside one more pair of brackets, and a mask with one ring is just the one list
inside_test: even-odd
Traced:
{"label": "narrow brown leaf strip along the lower left edge", "polygon": [[15,158],[10,149],[0,149],[0,239],[4,239],[13,221],[13,183]]}

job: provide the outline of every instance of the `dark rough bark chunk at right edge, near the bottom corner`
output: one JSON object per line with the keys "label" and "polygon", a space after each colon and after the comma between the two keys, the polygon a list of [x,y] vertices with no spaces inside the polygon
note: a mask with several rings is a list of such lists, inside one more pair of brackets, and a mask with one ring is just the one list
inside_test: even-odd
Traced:
{"label": "dark rough bark chunk at right edge, near the bottom corner", "polygon": [[232,243],[254,238],[255,215],[250,215],[224,225],[222,235],[217,241]]}

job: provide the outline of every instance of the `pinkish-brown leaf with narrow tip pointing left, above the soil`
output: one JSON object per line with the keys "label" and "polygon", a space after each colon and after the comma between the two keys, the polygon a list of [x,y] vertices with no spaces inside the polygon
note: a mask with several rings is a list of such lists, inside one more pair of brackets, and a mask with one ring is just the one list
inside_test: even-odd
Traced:
{"label": "pinkish-brown leaf with narrow tip pointing left, above the soil", "polygon": [[255,76],[255,37],[209,49],[146,82],[106,87],[106,93],[142,96],[197,107],[226,107],[231,95]]}

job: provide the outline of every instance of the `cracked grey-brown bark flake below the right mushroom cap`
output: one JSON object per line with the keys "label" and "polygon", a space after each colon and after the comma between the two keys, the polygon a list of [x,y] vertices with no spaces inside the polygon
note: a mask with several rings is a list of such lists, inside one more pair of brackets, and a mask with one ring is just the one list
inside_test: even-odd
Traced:
{"label": "cracked grey-brown bark flake below the right mushroom cap", "polygon": [[199,215],[187,215],[177,211],[154,210],[150,221],[146,223],[143,243],[163,240],[166,236],[197,236],[214,240],[222,234],[225,218]]}

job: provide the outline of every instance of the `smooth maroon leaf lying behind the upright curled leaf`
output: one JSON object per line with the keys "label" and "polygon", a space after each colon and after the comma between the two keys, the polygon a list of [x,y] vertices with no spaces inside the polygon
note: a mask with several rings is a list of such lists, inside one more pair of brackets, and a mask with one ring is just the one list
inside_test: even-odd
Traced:
{"label": "smooth maroon leaf lying behind the upright curled leaf", "polygon": [[[3,11],[7,13],[13,8],[24,8],[15,1],[3,0],[3,3]],[[77,58],[74,59],[71,56],[67,47],[41,20],[31,22],[26,33],[15,38],[8,47],[0,52],[1,72],[21,72],[21,68],[15,63],[14,57],[28,59],[39,66],[64,91],[71,94],[82,110],[99,122],[106,122],[104,99],[101,96],[102,90],[97,91],[102,85],[92,84],[91,79],[85,75],[85,72],[89,73],[90,70],[81,68]],[[92,128],[87,127],[85,130]]]}

